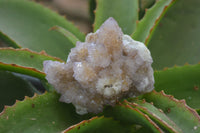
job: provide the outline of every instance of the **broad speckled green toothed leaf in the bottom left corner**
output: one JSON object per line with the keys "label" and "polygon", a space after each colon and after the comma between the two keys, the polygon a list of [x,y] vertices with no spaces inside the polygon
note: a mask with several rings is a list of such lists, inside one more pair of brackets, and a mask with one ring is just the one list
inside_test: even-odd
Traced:
{"label": "broad speckled green toothed leaf in the bottom left corner", "polygon": [[56,93],[45,93],[17,101],[0,114],[1,132],[56,133],[91,117],[76,114],[72,104],[61,103],[58,99]]}

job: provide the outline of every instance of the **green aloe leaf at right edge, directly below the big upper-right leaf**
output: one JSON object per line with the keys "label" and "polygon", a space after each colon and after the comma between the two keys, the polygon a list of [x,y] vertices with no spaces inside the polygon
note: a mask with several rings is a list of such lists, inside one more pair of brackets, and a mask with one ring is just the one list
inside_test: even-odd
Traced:
{"label": "green aloe leaf at right edge, directly below the big upper-right leaf", "polygon": [[185,99],[187,104],[200,109],[200,64],[173,67],[155,71],[155,89],[162,89],[178,99]]}

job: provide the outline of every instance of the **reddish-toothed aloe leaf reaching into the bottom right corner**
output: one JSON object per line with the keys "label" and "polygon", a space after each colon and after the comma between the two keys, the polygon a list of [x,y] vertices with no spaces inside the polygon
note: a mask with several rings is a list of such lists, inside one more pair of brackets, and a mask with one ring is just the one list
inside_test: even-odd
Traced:
{"label": "reddish-toothed aloe leaf reaching into the bottom right corner", "polygon": [[184,100],[177,100],[173,96],[153,91],[145,94],[143,98],[147,102],[153,102],[156,108],[162,109],[183,132],[199,133],[200,132],[200,116],[198,113],[186,105]]}

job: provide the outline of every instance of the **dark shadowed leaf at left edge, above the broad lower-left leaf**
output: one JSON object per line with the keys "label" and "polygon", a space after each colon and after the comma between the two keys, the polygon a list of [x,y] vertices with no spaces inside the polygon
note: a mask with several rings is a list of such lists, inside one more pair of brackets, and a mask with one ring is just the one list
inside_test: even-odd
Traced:
{"label": "dark shadowed leaf at left edge, above the broad lower-left leaf", "polygon": [[4,105],[13,105],[16,99],[33,96],[34,89],[28,81],[11,72],[0,71],[0,112]]}

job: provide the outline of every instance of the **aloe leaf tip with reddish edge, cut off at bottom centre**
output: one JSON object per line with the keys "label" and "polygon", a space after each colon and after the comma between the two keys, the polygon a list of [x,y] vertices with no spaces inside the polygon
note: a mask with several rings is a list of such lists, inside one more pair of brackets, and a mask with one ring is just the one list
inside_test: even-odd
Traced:
{"label": "aloe leaf tip with reddish edge, cut off at bottom centre", "polygon": [[73,125],[63,131],[63,133],[123,133],[133,132],[131,128],[120,125],[112,118],[93,117]]}

